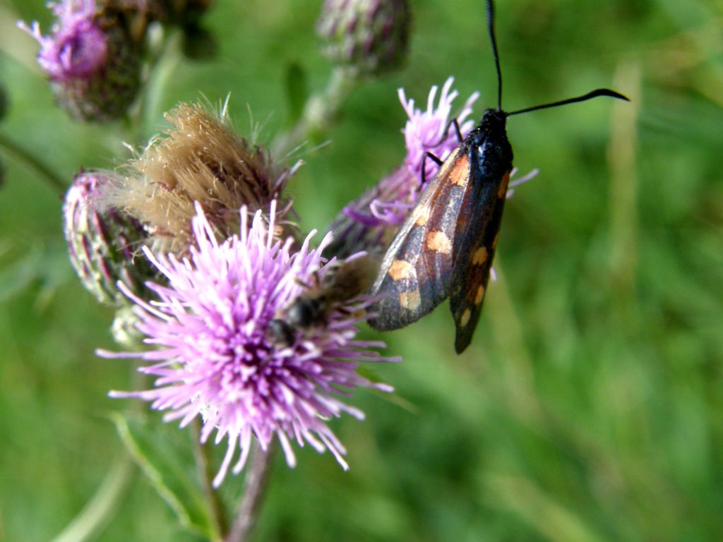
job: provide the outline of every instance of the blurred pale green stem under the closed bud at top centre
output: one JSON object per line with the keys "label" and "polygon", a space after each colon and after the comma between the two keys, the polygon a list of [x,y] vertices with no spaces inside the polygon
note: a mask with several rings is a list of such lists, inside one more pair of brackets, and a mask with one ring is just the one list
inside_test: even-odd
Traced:
{"label": "blurred pale green stem under the closed bud at top centre", "polygon": [[358,82],[359,78],[353,72],[335,68],[326,88],[307,100],[304,114],[296,125],[275,139],[271,154],[282,158],[304,143],[310,135],[318,136],[328,132],[335,124],[342,104]]}

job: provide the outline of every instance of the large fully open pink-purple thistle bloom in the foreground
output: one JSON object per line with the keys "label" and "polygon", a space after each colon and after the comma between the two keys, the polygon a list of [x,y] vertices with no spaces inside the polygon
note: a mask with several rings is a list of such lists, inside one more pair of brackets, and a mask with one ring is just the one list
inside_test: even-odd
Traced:
{"label": "large fully open pink-purple thistle bloom in the foreground", "polygon": [[380,356],[376,349],[384,343],[355,339],[357,325],[367,319],[363,309],[373,301],[367,296],[333,310],[324,326],[305,330],[294,344],[275,344],[269,323],[304,292],[300,281],[323,278],[332,262],[324,264],[321,256],[330,236],[309,249],[312,232],[293,254],[291,238],[275,241],[274,207],[270,224],[258,211],[250,228],[244,207],[240,236],[219,243],[199,206],[192,224],[196,246],[188,258],[153,257],[146,249],[168,285],[148,283],[158,296],[150,304],[127,295],[137,304],[145,343],[158,350],[98,352],[150,361],[141,371],[157,377],[153,390],[111,392],[112,397],[152,401],[153,408],[169,410],[166,421],[180,419],[181,426],[202,416],[202,442],[214,430],[216,443],[228,438],[215,486],[226,476],[236,447],[240,457],[232,472],[244,467],[253,437],[267,449],[276,435],[290,466],[296,463],[295,440],[319,452],[329,449],[348,468],[346,449],[325,420],[344,412],[364,417],[339,398],[357,387],[391,390],[357,374],[361,362],[398,361]]}

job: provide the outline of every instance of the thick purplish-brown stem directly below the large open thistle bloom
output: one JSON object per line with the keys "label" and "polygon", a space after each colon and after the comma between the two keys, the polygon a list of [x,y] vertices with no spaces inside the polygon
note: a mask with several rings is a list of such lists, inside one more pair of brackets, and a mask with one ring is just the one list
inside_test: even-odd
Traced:
{"label": "thick purplish-brown stem directly below the large open thistle bloom", "polygon": [[228,533],[225,542],[247,542],[249,540],[261,508],[275,451],[275,442],[271,442],[268,450],[264,451],[254,440],[252,463],[246,473],[244,496],[234,525],[231,527],[231,533]]}

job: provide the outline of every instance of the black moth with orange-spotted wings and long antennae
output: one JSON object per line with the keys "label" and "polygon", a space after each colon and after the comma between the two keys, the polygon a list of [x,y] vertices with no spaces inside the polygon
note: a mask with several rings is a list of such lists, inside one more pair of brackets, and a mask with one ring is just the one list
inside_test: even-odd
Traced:
{"label": "black moth with orange-spotted wings and long antennae", "polygon": [[372,307],[377,316],[369,320],[377,330],[405,327],[450,298],[457,353],[472,340],[497,247],[513,160],[505,132],[508,116],[597,96],[628,100],[601,88],[568,100],[502,111],[492,0],[487,0],[487,22],[497,69],[497,109],[485,111],[479,126],[465,138],[453,121],[460,145],[443,163],[426,153],[425,158],[440,164],[440,171],[397,231],[370,292],[382,296]]}

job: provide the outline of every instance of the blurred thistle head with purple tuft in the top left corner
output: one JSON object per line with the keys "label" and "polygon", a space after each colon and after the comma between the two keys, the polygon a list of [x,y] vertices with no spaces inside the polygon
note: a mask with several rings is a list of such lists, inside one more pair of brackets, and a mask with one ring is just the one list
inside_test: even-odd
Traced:
{"label": "blurred thistle head with purple tuft in the top left corner", "polygon": [[124,115],[140,87],[140,51],[121,18],[95,0],[51,4],[51,34],[18,26],[40,43],[38,64],[56,99],[76,119],[108,121]]}

